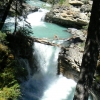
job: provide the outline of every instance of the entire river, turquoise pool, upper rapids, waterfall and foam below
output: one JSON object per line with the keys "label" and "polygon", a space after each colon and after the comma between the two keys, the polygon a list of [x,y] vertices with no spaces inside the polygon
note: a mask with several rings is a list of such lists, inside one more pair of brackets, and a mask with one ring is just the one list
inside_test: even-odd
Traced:
{"label": "entire river, turquoise pool, upper rapids, waterfall and foam below", "polygon": [[[39,0],[30,0],[27,3],[42,7],[45,4]],[[63,44],[63,39],[69,38],[71,35],[66,32],[67,28],[58,26],[53,23],[44,22],[47,9],[40,8],[37,12],[27,16],[27,21],[32,26],[34,37],[48,38],[54,42],[54,36],[57,35],[62,41],[56,41]],[[14,18],[6,20],[9,29],[13,29]],[[20,22],[23,25],[23,22]],[[13,28],[12,28],[13,27]],[[40,43],[34,43],[33,56],[36,57],[36,64],[39,71],[33,76],[30,75],[29,64],[25,63],[25,68],[28,70],[28,80],[21,84],[21,97],[19,100],[72,100],[74,96],[76,82],[72,79],[67,79],[63,75],[57,75],[58,55],[60,48],[48,46]],[[89,100],[92,100],[89,97]]]}

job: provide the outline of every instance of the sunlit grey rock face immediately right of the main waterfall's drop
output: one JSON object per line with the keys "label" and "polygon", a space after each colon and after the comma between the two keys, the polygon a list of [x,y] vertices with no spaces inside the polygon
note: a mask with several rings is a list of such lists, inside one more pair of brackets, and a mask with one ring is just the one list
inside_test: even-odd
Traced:
{"label": "sunlit grey rock face immediately right of the main waterfall's drop", "polygon": [[62,49],[58,59],[58,70],[64,76],[77,81],[83,53],[79,52],[79,48],[74,46],[74,44],[71,44],[69,49]]}

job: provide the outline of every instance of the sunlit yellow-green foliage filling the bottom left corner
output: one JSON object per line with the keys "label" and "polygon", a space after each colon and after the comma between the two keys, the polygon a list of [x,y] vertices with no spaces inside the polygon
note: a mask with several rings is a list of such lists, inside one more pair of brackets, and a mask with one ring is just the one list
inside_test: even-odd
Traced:
{"label": "sunlit yellow-green foliage filling the bottom left corner", "polygon": [[20,86],[15,78],[15,68],[12,66],[12,61],[0,73],[0,87],[0,98],[4,100],[16,100],[20,95]]}

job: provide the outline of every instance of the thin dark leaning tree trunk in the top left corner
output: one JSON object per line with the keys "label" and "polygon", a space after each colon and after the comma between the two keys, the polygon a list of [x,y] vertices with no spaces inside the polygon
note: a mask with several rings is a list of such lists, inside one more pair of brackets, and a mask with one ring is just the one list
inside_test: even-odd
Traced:
{"label": "thin dark leaning tree trunk in the top left corner", "polygon": [[12,2],[13,2],[13,0],[9,0],[9,2],[8,2],[8,5],[6,7],[6,10],[4,12],[4,15],[3,15],[1,23],[0,23],[0,30],[2,29],[2,27],[4,25],[4,22],[5,22],[6,18],[7,18],[7,15],[8,15],[8,12],[10,10],[10,6],[11,6]]}

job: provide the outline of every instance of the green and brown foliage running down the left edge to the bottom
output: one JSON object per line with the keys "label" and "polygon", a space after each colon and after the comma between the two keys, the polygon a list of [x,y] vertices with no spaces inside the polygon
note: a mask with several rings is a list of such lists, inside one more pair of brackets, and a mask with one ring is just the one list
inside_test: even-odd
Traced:
{"label": "green and brown foliage running down the left edge to the bottom", "polygon": [[4,45],[6,34],[0,32],[0,100],[16,100],[20,95],[20,85],[16,79],[16,61],[11,50]]}

